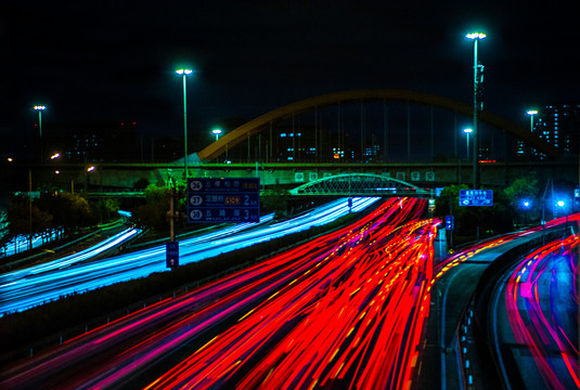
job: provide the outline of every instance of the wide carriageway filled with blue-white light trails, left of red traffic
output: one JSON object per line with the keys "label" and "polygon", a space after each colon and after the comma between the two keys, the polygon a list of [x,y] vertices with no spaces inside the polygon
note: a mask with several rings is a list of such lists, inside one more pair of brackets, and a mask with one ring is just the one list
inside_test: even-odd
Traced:
{"label": "wide carriageway filled with blue-white light trails, left of red traffic", "polygon": [[[358,212],[378,198],[355,198]],[[267,242],[336,220],[349,212],[346,198],[332,202],[288,221],[271,224],[272,214],[259,225],[241,223],[180,243],[180,262],[186,264],[231,250]],[[127,234],[129,234],[128,232]],[[22,311],[63,296],[166,271],[165,246],[83,262],[90,253],[0,275],[0,315]]]}

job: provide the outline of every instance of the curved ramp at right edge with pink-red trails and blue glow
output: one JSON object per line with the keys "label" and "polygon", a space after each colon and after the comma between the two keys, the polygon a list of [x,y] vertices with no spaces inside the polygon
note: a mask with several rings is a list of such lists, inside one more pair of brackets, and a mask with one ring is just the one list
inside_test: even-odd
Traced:
{"label": "curved ramp at right edge with pink-red trails and blue glow", "polygon": [[[513,339],[510,334],[500,336],[497,348],[505,365],[515,361],[528,388],[539,382],[552,389],[580,388],[579,243],[579,236],[571,235],[546,244],[513,269],[504,286],[505,314]],[[510,382],[510,374],[506,375]]]}

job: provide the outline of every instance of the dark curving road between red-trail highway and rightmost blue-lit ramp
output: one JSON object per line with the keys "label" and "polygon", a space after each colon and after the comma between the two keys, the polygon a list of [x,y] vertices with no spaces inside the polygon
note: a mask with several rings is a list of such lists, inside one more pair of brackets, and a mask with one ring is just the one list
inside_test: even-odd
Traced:
{"label": "dark curving road between red-trail highway and rightmost blue-lit ramp", "polygon": [[541,234],[528,234],[490,247],[478,244],[454,253],[454,257],[465,258],[447,270],[434,285],[424,350],[413,389],[454,390],[464,389],[465,385],[484,389],[501,387],[487,351],[474,342],[473,320],[467,320],[471,327],[460,326],[460,323],[463,316],[471,316],[473,294],[489,264]]}

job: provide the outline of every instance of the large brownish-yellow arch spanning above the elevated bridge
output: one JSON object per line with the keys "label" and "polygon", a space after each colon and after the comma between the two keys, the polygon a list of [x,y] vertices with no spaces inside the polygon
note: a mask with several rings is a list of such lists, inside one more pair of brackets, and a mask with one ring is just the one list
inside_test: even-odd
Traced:
{"label": "large brownish-yellow arch spanning above the elevated bridge", "polygon": [[[263,114],[256,119],[253,119],[231,132],[227,133],[218,141],[211,143],[204,150],[197,153],[201,161],[211,160],[228,148],[232,148],[240,142],[247,138],[267,129],[270,123],[279,120],[292,118],[293,116],[311,112],[317,108],[332,106],[340,103],[351,102],[409,102],[413,104],[424,104],[439,108],[451,109],[461,115],[473,116],[473,105],[466,104],[453,99],[438,96],[430,93],[414,92],[408,90],[353,90],[330,93],[321,96],[309,98],[302,101],[285,105],[283,107],[273,109]],[[518,139],[526,141],[530,146],[537,148],[539,152],[545,153],[550,157],[557,157],[560,151],[549,144],[544,140],[536,136],[524,127],[516,125],[505,118],[491,114],[489,112],[481,112],[479,120],[482,123],[490,125],[498,129],[504,130]]]}

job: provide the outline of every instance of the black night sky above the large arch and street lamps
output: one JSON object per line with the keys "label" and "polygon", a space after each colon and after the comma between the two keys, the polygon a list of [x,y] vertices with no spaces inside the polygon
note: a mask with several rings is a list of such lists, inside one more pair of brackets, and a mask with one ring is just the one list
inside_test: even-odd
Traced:
{"label": "black night sky above the large arch and street lamps", "polygon": [[[8,1],[0,10],[0,140],[43,123],[136,121],[182,132],[319,94],[409,89],[469,103],[480,29],[486,109],[580,102],[577,1]],[[7,4],[8,3],[8,4]],[[441,4],[446,5],[441,5]],[[9,147],[2,142],[0,150]],[[4,151],[0,151],[5,153]]]}

